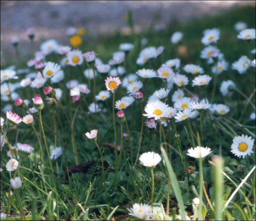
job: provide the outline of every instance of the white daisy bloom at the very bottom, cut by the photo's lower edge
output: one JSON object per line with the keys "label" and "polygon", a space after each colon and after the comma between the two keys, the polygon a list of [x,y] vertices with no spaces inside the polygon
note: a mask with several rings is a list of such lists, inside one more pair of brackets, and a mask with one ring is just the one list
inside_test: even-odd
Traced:
{"label": "white daisy bloom at the very bottom, cut by the photo's lower edge", "polygon": [[147,220],[153,215],[151,206],[146,204],[133,204],[132,208],[127,210],[130,212],[129,215],[140,220]]}

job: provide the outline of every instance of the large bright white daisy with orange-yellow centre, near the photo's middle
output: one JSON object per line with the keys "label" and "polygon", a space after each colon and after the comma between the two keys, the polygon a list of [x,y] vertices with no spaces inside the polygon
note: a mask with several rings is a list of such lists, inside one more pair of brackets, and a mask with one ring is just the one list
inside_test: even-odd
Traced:
{"label": "large bright white daisy with orange-yellow centre, near the photo's middle", "polygon": [[144,110],[147,114],[143,114],[143,116],[154,118],[155,120],[159,120],[161,117],[167,117],[171,112],[170,107],[161,101],[148,103]]}

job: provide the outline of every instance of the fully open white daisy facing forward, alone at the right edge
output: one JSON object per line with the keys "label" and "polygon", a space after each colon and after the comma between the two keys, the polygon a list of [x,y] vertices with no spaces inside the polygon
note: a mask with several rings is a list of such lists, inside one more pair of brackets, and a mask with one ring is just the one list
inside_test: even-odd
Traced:
{"label": "fully open white daisy facing forward, alone at the right edge", "polygon": [[231,145],[231,152],[235,154],[237,157],[245,158],[246,155],[251,155],[253,153],[252,147],[254,145],[254,139],[252,137],[237,136],[233,139],[233,143]]}

